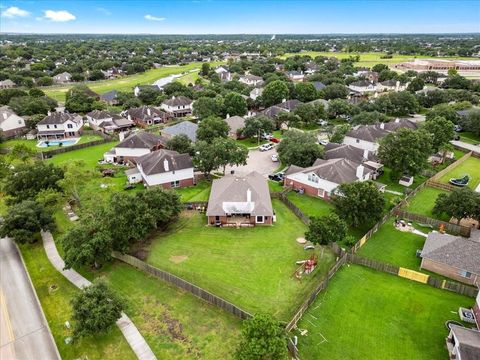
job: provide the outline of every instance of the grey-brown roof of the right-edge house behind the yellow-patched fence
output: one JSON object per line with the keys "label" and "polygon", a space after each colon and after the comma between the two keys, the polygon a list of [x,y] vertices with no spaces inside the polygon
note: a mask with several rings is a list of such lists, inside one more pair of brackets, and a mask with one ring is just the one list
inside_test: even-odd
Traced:
{"label": "grey-brown roof of the right-edge house behind the yellow-patched fence", "polygon": [[431,232],[422,258],[480,275],[480,242],[460,236]]}

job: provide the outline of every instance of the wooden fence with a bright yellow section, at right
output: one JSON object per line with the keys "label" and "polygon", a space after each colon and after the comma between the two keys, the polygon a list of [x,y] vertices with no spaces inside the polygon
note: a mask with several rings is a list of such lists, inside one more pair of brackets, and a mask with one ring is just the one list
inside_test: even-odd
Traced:
{"label": "wooden fence with a bright yellow section, at right", "polygon": [[478,293],[478,290],[472,286],[460,284],[450,280],[441,280],[431,275],[427,275],[415,270],[402,268],[392,264],[387,264],[374,259],[365,258],[363,256],[358,256],[355,254],[347,254],[347,260],[352,264],[366,266],[377,271],[382,271],[392,275],[397,275],[412,281],[417,281],[422,284],[433,286],[437,289],[452,291],[460,295],[475,297],[477,296],[477,293]]}

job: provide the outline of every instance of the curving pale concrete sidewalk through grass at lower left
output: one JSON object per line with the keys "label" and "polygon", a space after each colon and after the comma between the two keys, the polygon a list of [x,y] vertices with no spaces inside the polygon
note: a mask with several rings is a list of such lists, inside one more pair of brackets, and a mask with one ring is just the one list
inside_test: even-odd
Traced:
{"label": "curving pale concrete sidewalk through grass at lower left", "polygon": [[[55,269],[61,272],[63,276],[65,276],[73,285],[75,285],[79,289],[91,285],[90,281],[85,279],[75,270],[64,270],[65,262],[60,257],[60,254],[57,251],[57,247],[55,246],[55,241],[53,240],[53,236],[50,232],[42,232],[42,239],[43,247],[45,248],[47,257],[52,263],[52,265],[55,267]],[[122,317],[117,320],[117,326],[122,331],[123,336],[125,336],[125,339],[127,340],[135,355],[137,355],[138,359],[156,359],[155,354],[152,352],[152,349],[150,349],[150,346],[148,346],[142,334],[140,334],[135,324],[129,319],[129,317],[125,313],[122,312]]]}

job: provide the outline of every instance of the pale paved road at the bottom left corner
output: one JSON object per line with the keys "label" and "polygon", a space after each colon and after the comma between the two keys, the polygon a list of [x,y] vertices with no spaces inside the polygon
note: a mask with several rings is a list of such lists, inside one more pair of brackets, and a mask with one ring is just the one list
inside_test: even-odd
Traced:
{"label": "pale paved road at the bottom left corner", "polygon": [[0,239],[0,359],[60,359],[20,254]]}

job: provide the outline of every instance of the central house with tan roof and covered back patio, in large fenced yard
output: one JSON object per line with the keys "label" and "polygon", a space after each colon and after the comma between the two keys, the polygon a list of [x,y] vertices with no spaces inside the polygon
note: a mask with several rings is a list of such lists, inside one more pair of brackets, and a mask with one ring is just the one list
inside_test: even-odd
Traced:
{"label": "central house with tan roof and covered back patio, in large fenced yard", "polygon": [[275,221],[267,180],[256,171],[213,180],[207,218],[215,226],[272,225]]}

